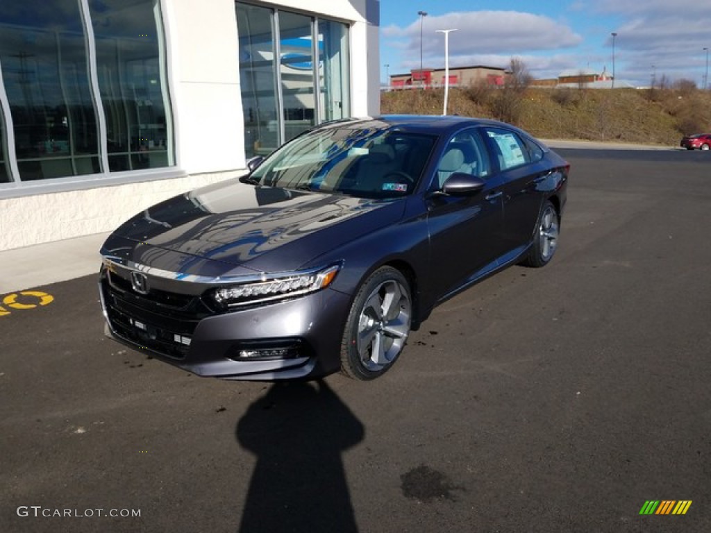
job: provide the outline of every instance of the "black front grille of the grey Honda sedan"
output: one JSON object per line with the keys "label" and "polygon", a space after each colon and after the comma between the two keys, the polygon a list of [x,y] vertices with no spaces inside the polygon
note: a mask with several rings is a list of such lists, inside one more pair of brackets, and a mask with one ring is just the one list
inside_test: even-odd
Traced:
{"label": "black front grille of the grey Honda sedan", "polygon": [[153,289],[138,294],[130,281],[109,272],[102,276],[101,290],[109,324],[119,337],[173,359],[186,357],[198,322],[214,314],[200,296]]}

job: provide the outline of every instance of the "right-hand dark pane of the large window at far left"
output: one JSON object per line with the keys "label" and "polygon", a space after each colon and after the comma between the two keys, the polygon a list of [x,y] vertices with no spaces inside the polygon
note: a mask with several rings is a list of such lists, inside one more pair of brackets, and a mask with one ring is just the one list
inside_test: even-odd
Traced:
{"label": "right-hand dark pane of the large window at far left", "polygon": [[89,2],[112,172],[174,164],[156,1]]}

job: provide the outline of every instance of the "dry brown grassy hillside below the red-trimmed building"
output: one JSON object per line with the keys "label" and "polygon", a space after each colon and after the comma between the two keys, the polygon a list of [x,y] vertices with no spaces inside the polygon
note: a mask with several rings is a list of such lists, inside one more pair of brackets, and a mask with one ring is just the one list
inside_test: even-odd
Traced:
{"label": "dry brown grassy hillside below the red-trimmed building", "polygon": [[[444,90],[383,92],[383,114],[441,114]],[[510,122],[543,139],[678,145],[711,131],[711,91],[451,87],[449,114]]]}

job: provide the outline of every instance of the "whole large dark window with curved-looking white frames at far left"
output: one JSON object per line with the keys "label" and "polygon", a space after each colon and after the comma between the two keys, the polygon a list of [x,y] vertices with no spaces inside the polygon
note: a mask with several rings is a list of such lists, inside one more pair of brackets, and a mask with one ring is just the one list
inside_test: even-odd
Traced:
{"label": "whole large dark window with curved-looking white frames at far left", "polygon": [[6,4],[0,95],[9,117],[0,117],[0,183],[173,164],[158,0]]}

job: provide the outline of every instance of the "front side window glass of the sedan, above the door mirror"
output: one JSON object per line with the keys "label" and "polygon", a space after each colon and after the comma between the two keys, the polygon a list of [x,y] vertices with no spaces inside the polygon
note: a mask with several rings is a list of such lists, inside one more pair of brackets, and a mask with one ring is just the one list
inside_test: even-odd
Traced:
{"label": "front side window glass of the sedan, above the door mirror", "polygon": [[491,173],[486,148],[476,129],[459,131],[449,139],[437,166],[439,188],[454,173],[471,174],[479,178],[486,178]]}

